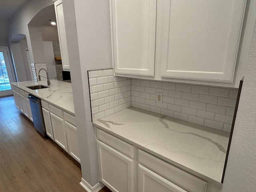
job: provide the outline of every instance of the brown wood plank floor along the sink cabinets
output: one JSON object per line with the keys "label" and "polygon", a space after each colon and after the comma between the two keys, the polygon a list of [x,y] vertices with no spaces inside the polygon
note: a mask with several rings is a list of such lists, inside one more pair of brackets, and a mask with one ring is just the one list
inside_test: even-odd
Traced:
{"label": "brown wood plank floor along the sink cabinets", "polygon": [[13,96],[0,98],[0,192],[86,192],[81,177],[80,164],[36,131]]}

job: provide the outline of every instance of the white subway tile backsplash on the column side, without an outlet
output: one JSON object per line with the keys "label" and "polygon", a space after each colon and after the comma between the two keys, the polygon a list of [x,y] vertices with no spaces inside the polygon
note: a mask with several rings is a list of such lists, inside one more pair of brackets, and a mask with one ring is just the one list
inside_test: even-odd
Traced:
{"label": "white subway tile backsplash on the column side, without an outlet", "polygon": [[88,71],[92,121],[131,106],[131,79],[113,76],[113,69]]}

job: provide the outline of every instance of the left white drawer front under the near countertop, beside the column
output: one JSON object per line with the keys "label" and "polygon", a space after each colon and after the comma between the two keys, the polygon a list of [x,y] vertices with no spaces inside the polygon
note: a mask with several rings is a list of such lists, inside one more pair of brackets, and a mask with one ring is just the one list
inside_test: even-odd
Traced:
{"label": "left white drawer front under the near countertop, beside the column", "polygon": [[100,130],[96,129],[97,132],[97,139],[108,144],[112,148],[122,152],[123,154],[126,154],[130,158],[133,158],[133,146]]}

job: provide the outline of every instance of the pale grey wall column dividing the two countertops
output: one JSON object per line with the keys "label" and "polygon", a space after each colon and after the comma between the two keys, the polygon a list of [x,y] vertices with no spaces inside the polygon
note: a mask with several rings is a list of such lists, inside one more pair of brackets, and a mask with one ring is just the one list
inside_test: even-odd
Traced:
{"label": "pale grey wall column dividing the two countertops", "polygon": [[87,70],[112,67],[109,1],[62,2],[82,177],[94,186],[99,181],[99,172]]}

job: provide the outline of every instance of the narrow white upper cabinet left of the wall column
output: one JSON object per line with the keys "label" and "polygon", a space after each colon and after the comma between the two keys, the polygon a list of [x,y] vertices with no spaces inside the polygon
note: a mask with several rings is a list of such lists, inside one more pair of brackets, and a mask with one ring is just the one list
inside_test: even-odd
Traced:
{"label": "narrow white upper cabinet left of the wall column", "polygon": [[57,0],[56,2],[54,2],[54,8],[55,8],[55,15],[56,15],[56,24],[58,28],[58,37],[60,42],[60,54],[61,54],[62,67],[64,71],[66,70],[69,71],[70,69],[69,69],[69,60],[68,60],[68,46],[67,46],[67,39],[66,39],[62,0]]}

